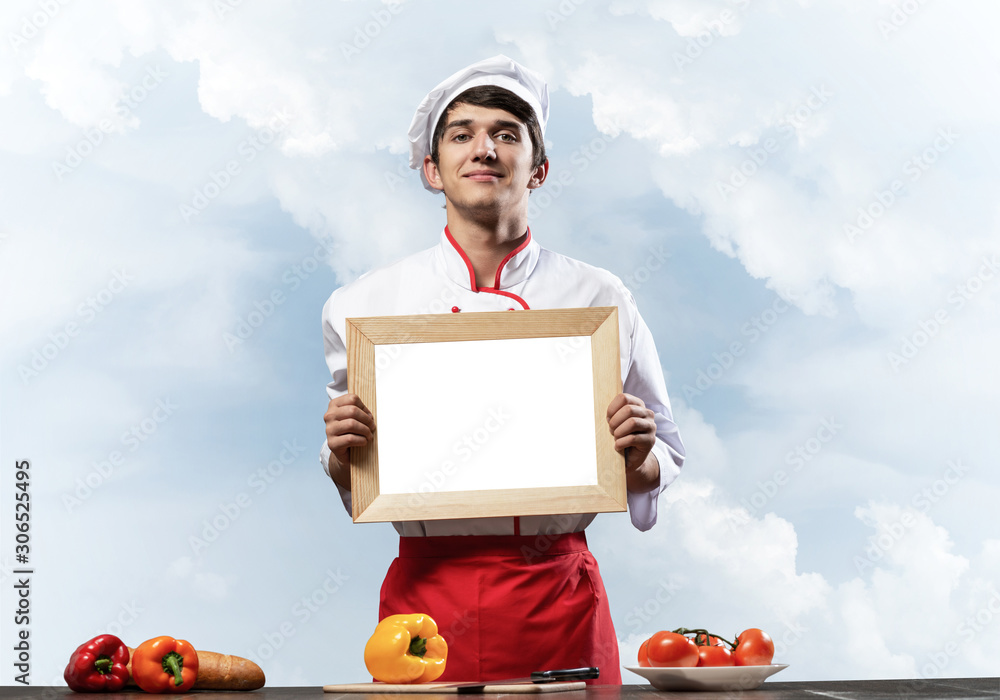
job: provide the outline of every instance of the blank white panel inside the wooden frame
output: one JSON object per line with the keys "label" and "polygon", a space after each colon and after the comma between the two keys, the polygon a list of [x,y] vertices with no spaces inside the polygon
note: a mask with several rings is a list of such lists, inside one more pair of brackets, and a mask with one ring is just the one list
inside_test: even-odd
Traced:
{"label": "blank white panel inside the wooden frame", "polygon": [[590,344],[376,345],[380,493],[596,485]]}

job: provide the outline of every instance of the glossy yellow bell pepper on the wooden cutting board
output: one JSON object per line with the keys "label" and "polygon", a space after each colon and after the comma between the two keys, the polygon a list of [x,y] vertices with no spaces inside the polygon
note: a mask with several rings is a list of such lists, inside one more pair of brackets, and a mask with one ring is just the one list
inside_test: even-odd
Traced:
{"label": "glossy yellow bell pepper on the wooden cutting board", "polygon": [[383,683],[426,683],[444,673],[448,643],[430,615],[390,615],[365,645],[365,666]]}

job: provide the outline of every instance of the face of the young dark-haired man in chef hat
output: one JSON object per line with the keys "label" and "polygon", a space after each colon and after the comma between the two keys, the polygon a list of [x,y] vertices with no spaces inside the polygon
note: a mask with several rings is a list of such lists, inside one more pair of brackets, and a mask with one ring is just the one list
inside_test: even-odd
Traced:
{"label": "face of the young dark-haired man in chef hat", "polygon": [[438,160],[424,159],[424,175],[442,190],[451,207],[474,218],[527,208],[528,193],[540,187],[548,163],[533,167],[528,128],[502,109],[458,104],[449,112]]}

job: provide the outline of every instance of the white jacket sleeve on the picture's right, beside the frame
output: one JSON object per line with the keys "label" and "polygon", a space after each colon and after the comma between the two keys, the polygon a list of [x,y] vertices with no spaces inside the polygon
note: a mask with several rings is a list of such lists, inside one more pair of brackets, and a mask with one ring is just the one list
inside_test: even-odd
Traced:
{"label": "white jacket sleeve on the picture's right, beside the frame", "polygon": [[670,409],[670,398],[667,396],[666,382],[663,379],[663,368],[656,352],[653,335],[646,326],[636,308],[635,300],[626,289],[627,310],[631,318],[631,334],[629,336],[629,362],[622,390],[643,400],[646,407],[655,413],[656,444],[652,453],[660,464],[660,484],[646,493],[628,492],[628,509],[632,524],[639,530],[646,531],[656,524],[657,500],[660,493],[680,474],[684,463],[684,444],[680,432],[674,423],[673,412]]}

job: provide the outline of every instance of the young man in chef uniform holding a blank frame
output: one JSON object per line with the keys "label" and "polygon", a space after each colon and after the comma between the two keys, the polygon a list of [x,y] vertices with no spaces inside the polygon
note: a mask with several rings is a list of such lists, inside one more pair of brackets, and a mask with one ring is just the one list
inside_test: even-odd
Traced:
{"label": "young man in chef uniform holding a blank frame", "polygon": [[[505,56],[460,70],[417,108],[410,166],[444,196],[441,239],[340,287],[323,309],[333,381],[321,461],[348,512],[350,450],[372,440],[375,422],[346,393],[346,318],[617,306],[623,393],[607,407],[608,430],[625,457],[632,523],[648,530],[656,522],[657,496],[678,475],[684,447],[650,331],[617,277],[543,248],[528,228],[528,197],[549,169],[548,109],[542,76]],[[558,396],[537,400],[559,410]],[[433,430],[434,417],[422,419]],[[598,666],[598,683],[621,683],[607,597],[584,536],[594,517],[393,523],[399,557],[382,585],[379,619],[430,614],[449,643],[440,680]]]}

